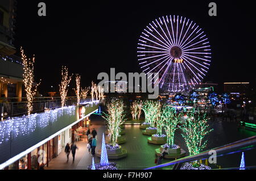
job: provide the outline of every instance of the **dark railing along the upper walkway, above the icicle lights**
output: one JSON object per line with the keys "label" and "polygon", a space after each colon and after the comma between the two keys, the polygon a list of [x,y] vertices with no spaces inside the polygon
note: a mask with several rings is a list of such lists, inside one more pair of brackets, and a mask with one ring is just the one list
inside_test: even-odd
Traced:
{"label": "dark railing along the upper walkway, above the icicle lights", "polygon": [[[81,102],[89,101],[91,98],[81,99]],[[68,97],[65,106],[72,106],[77,103],[76,97]],[[45,110],[52,110],[55,108],[61,107],[61,99],[59,97],[41,97],[35,98],[32,103],[32,112],[31,113],[39,113],[44,112]],[[7,117],[14,116],[22,116],[27,114],[27,102],[7,102],[0,104],[0,112],[1,107],[3,108],[3,119]],[[0,115],[1,116],[1,115]]]}

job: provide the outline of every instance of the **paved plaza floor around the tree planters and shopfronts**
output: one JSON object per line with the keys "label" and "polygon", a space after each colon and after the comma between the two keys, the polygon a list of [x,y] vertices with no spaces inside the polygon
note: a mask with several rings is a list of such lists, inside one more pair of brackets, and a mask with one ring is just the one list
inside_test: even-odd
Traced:
{"label": "paved plaza floor around the tree planters and shopfronts", "polygon": [[[90,117],[91,127],[95,128],[97,136],[97,147],[101,149],[102,133],[106,130],[106,125],[104,119],[101,116],[93,115]],[[221,120],[210,121],[210,126],[214,129],[213,132],[209,134],[208,148],[216,148],[217,146],[222,146],[229,144],[230,142],[238,141],[246,137],[254,136],[256,133],[247,130],[238,130],[236,123],[224,122]],[[139,125],[125,125],[125,138],[126,143],[121,144],[122,148],[127,149],[127,157],[117,160],[110,160],[116,162],[118,169],[146,169],[147,167],[155,166],[155,149],[159,148],[159,145],[148,144],[146,135],[142,134],[142,130],[139,129]],[[75,162],[72,163],[72,154],[69,155],[69,162],[67,162],[67,157],[64,151],[61,152],[58,157],[53,158],[49,162],[49,167],[46,169],[79,169],[86,170],[87,167],[92,164],[92,156],[86,149],[87,139],[85,136],[81,138],[81,141],[76,142],[79,150],[76,151]],[[175,144],[180,145],[185,151],[188,151],[184,145],[183,138],[180,135],[180,131],[176,132]],[[241,153],[237,153],[241,154]],[[246,152],[246,157],[253,157],[253,150]],[[229,159],[227,159],[229,158]],[[100,162],[100,158],[94,157],[95,163]],[[171,159],[164,159],[163,163],[170,162]],[[247,165],[253,164],[254,159],[247,159]],[[236,166],[240,163],[240,156],[236,154],[225,155],[224,157],[218,158],[218,164],[226,167]],[[167,169],[167,168],[165,168]],[[171,169],[169,167],[168,169]]]}

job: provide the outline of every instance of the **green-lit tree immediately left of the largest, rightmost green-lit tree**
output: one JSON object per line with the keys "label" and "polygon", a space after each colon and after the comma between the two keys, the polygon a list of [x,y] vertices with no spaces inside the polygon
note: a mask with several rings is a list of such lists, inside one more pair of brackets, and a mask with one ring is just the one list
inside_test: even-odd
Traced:
{"label": "green-lit tree immediately left of the largest, rightmost green-lit tree", "polygon": [[166,131],[167,144],[169,146],[174,145],[174,135],[177,129],[177,124],[179,123],[180,116],[181,114],[177,116],[175,108],[168,105],[163,106],[163,110],[161,112],[161,119],[164,120],[164,131]]}

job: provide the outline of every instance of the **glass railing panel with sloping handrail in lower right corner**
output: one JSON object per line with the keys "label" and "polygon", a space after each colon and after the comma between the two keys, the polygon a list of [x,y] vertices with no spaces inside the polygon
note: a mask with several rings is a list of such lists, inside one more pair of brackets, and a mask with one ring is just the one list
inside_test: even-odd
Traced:
{"label": "glass railing panel with sloping handrail in lower right corner", "polygon": [[256,169],[256,136],[245,138],[197,155],[176,159],[146,170],[250,170]]}

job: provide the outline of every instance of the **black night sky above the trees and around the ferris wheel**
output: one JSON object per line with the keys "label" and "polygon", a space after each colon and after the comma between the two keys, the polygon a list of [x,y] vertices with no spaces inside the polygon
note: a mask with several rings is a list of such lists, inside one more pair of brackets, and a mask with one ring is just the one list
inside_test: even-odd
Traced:
{"label": "black night sky above the trees and around the ferris wheel", "polygon": [[[46,17],[38,16],[39,2],[46,3]],[[98,73],[110,68],[141,72],[138,37],[148,23],[163,15],[185,16],[206,32],[213,58],[204,81],[255,83],[256,21],[251,1],[213,1],[216,17],[208,15],[211,1],[68,2],[18,2],[14,44],[28,56],[35,54],[35,75],[42,79],[42,91],[51,90],[51,85],[59,89],[61,65],[79,73],[82,86],[97,81]]]}

